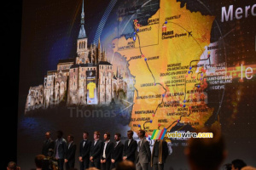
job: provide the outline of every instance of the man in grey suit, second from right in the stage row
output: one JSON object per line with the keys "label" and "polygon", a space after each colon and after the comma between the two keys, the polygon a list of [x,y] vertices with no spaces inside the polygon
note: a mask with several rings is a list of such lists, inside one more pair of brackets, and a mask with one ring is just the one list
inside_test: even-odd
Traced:
{"label": "man in grey suit, second from right in the stage row", "polygon": [[138,156],[137,156],[136,169],[137,170],[148,170],[148,163],[150,162],[150,157],[151,157],[149,142],[147,139],[145,139],[145,131],[144,130],[139,130],[139,132],[137,134],[141,140],[138,142],[139,152],[138,152]]}

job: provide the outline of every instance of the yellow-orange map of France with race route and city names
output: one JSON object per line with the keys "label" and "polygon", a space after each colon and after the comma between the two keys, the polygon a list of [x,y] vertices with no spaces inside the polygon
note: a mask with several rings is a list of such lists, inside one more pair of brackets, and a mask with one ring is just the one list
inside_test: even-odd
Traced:
{"label": "yellow-orange map of France with race route and city names", "polygon": [[169,131],[177,122],[204,127],[213,109],[205,102],[205,72],[197,64],[210,44],[214,19],[192,13],[186,5],[181,8],[176,0],[161,0],[148,26],[134,21],[135,41],[113,40],[113,52],[125,56],[135,77],[132,130],[145,129],[151,135],[154,129]]}

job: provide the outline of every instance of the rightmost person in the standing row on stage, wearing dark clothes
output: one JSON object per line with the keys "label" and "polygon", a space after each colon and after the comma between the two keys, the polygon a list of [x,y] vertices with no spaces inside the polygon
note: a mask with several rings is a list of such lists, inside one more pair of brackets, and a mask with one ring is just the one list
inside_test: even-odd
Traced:
{"label": "rightmost person in the standing row on stage, wearing dark clothes", "polygon": [[164,170],[164,163],[166,163],[167,156],[167,142],[162,139],[155,140],[151,155],[151,167],[153,167],[153,170]]}

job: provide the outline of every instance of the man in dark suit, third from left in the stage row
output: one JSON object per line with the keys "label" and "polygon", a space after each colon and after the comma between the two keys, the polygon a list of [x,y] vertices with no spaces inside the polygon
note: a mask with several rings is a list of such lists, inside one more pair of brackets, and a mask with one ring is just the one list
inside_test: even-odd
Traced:
{"label": "man in dark suit, third from left in the stage row", "polygon": [[73,135],[67,136],[67,153],[65,156],[66,170],[74,167],[77,144],[73,143]]}

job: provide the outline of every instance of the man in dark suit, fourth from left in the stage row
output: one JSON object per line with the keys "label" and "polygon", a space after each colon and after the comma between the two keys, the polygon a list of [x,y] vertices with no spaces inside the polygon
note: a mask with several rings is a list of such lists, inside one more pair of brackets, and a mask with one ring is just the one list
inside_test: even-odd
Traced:
{"label": "man in dark suit, fourth from left in the stage row", "polygon": [[88,140],[88,136],[89,136],[89,133],[84,132],[83,140],[80,142],[80,148],[79,148],[80,170],[89,168],[91,141]]}

